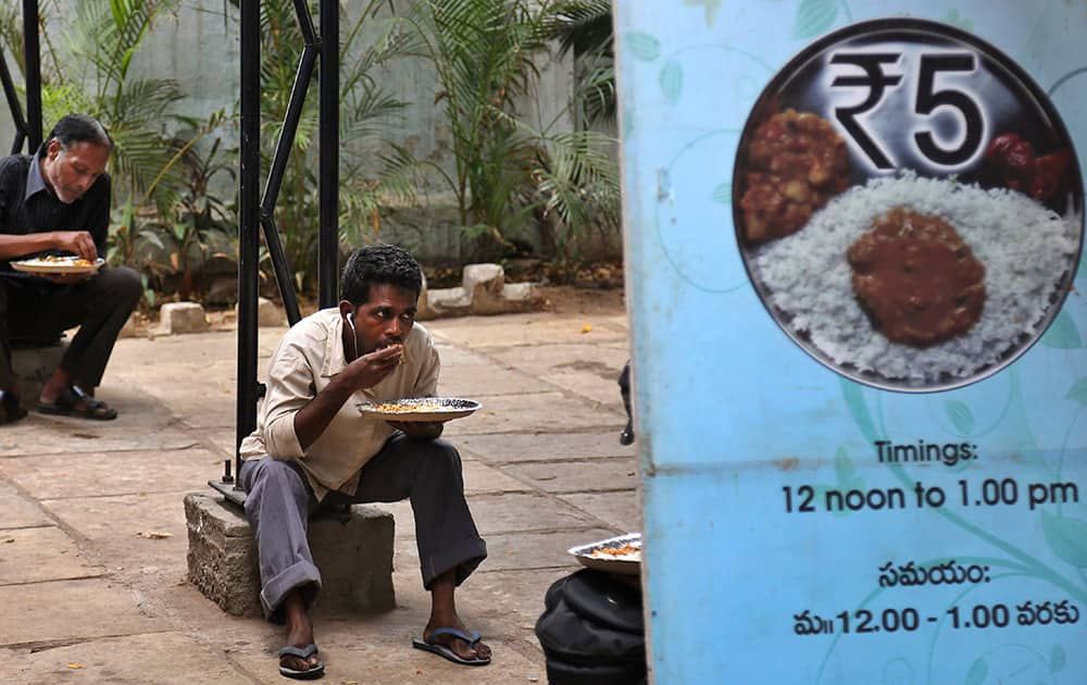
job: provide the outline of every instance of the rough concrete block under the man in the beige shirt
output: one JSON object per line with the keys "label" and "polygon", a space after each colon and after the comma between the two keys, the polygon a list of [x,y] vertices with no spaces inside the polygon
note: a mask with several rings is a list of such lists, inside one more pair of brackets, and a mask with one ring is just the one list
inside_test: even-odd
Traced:
{"label": "rough concrete block under the man in the beige shirt", "polygon": [[[224,611],[263,615],[257,541],[240,507],[214,491],[185,496],[188,578]],[[310,551],[321,570],[318,601],[358,611],[396,607],[392,514],[368,505],[318,510],[309,525]]]}

